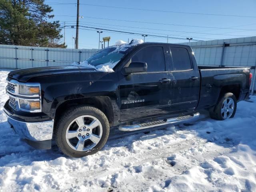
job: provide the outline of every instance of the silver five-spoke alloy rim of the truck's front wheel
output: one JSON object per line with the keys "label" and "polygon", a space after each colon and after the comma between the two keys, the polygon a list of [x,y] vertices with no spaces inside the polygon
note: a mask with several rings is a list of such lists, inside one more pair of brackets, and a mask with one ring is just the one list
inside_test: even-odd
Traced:
{"label": "silver five-spoke alloy rim of the truck's front wheel", "polygon": [[66,142],[76,151],[87,151],[94,148],[102,137],[102,124],[90,115],[74,119],[66,130]]}

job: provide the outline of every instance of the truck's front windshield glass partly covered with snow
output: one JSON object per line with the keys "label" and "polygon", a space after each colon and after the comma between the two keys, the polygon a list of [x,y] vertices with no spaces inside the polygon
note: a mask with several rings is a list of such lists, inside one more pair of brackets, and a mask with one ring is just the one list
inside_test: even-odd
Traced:
{"label": "truck's front windshield glass partly covered with snow", "polygon": [[88,58],[86,61],[88,64],[95,67],[107,63],[117,63],[126,54],[126,52],[130,50],[130,48],[131,46],[126,47],[126,45],[104,48]]}

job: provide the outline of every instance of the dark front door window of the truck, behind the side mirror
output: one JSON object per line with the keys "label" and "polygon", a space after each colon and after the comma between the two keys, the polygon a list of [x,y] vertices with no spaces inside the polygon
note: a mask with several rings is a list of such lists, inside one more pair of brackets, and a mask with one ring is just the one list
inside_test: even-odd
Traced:
{"label": "dark front door window of the truck, behind the side mirror", "polygon": [[132,57],[132,62],[146,62],[148,72],[165,71],[164,49],[162,47],[146,47]]}

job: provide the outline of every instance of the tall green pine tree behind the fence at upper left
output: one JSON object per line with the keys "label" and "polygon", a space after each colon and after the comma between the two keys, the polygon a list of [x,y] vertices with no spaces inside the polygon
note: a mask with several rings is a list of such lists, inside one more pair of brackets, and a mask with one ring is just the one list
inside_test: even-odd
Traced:
{"label": "tall green pine tree behind the fence at upper left", "polygon": [[0,0],[0,44],[65,48],[51,12],[44,0]]}

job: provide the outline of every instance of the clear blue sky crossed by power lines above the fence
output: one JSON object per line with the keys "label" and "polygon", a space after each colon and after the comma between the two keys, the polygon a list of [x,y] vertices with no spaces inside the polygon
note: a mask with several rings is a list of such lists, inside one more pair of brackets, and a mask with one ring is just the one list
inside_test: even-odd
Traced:
{"label": "clear blue sky crossed by power lines above the fence", "polygon": [[[64,26],[64,21],[66,21],[66,26],[76,25],[76,2],[76,0],[45,1],[54,10],[53,14],[55,17],[53,20],[59,20],[62,26]],[[156,12],[92,5],[253,17]],[[83,18],[80,18],[80,25],[148,35],[168,35],[175,38],[186,39],[186,37],[192,37],[196,40],[237,38],[256,36],[255,8],[256,0],[80,0],[80,16],[83,16]],[[88,28],[90,30],[84,30],[84,27],[80,28],[83,29],[79,29],[79,48],[98,48],[99,36],[96,32],[97,30],[90,28]],[[141,35],[136,34],[102,31],[101,40],[102,36],[111,36],[110,45],[114,44],[117,40],[127,42],[128,38],[130,40],[132,38],[143,39]],[[62,30],[62,34],[64,34],[64,30]],[[68,48],[74,48],[74,39],[72,37],[75,36],[75,27],[66,27],[66,44]],[[145,41],[167,42],[167,38],[147,36]],[[187,41],[183,39],[169,39],[171,43]]]}

